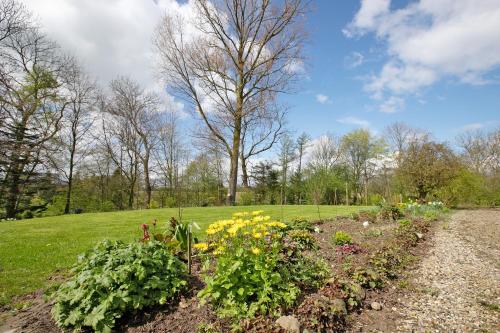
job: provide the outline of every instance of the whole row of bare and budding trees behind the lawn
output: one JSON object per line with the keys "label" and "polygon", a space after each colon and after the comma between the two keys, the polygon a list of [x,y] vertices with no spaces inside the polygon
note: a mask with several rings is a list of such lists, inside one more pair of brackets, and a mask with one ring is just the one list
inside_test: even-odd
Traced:
{"label": "whole row of bare and budding trees behind the lawn", "polygon": [[[212,12],[196,3],[206,23],[224,15],[224,7]],[[281,25],[277,44],[269,39],[275,32],[265,31],[275,25],[255,26],[262,20],[237,20],[231,24],[242,27],[216,34],[226,50],[208,47],[213,40],[177,38],[184,22],[160,22],[159,72],[194,110],[199,126],[188,130],[162,93],[128,77],[100,87],[23,5],[0,0],[0,217],[409,198],[499,204],[498,130],[464,134],[453,149],[402,123],[380,136],[360,129],[295,138],[277,98],[300,60],[302,32],[292,28],[303,7],[293,4],[283,15],[252,7],[254,16]],[[269,43],[266,52],[230,49],[241,43],[226,39],[241,31],[255,31],[252,43]]]}

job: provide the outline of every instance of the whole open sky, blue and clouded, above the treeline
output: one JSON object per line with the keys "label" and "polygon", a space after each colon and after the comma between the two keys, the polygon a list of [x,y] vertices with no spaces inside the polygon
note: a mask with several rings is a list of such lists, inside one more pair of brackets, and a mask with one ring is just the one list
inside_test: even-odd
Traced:
{"label": "whole open sky, blue and clouded, above the treeline", "polygon": [[[127,75],[157,87],[154,28],[164,13],[192,13],[186,0],[22,1],[103,86]],[[403,121],[452,142],[499,128],[499,0],[317,0],[306,28],[302,79],[281,97],[296,134]]]}

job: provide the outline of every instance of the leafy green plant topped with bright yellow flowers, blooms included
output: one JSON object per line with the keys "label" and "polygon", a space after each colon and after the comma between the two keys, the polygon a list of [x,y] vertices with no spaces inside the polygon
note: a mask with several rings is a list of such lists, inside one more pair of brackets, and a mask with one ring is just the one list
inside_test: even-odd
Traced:
{"label": "leafy green plant topped with bright yellow flowers, blooms included", "polygon": [[199,297],[221,317],[277,315],[295,303],[301,288],[318,287],[328,276],[326,265],[302,256],[284,236],[285,224],[261,214],[238,213],[207,228],[216,260]]}

